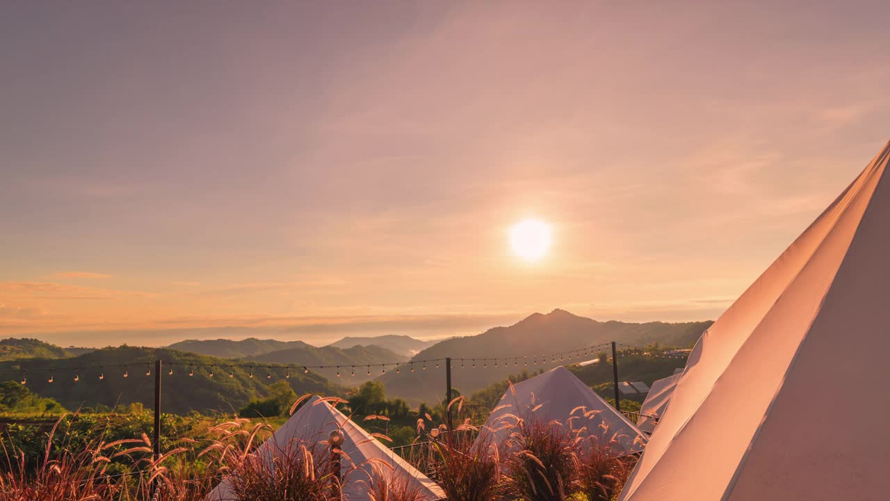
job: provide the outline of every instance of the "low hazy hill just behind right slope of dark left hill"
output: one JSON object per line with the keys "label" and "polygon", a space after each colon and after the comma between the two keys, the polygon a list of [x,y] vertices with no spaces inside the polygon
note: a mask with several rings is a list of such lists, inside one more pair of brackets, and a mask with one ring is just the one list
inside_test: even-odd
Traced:
{"label": "low hazy hill just behind right slope of dark left hill", "polygon": [[[393,353],[389,349],[378,346],[354,346],[352,348],[340,349],[334,346],[316,348],[306,344],[303,347],[281,349],[255,357],[247,357],[247,359],[258,363],[325,365],[330,368],[312,370],[325,376],[330,381],[352,385],[366,382],[379,375],[382,367],[379,365],[375,366],[375,364],[406,362],[409,357]],[[336,368],[336,365],[340,365],[339,370]],[[368,367],[368,365],[371,366]],[[353,367],[355,368],[355,375],[352,375]],[[387,366],[386,368],[393,369],[394,366]],[[368,375],[368,372],[371,375]],[[337,376],[337,373],[340,376]]]}

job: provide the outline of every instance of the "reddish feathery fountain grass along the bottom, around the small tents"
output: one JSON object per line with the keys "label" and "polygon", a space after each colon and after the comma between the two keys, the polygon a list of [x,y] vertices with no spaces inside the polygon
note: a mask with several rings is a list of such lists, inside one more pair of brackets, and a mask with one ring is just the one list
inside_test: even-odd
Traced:
{"label": "reddish feathery fountain grass along the bottom, around the small tents", "polygon": [[[462,404],[456,398],[449,406],[459,416]],[[469,420],[454,430],[444,424],[427,429],[432,417],[425,417],[417,422],[417,448],[406,459],[431,473],[450,501],[605,501],[619,493],[634,464],[617,442],[580,437],[567,423],[517,420],[510,438],[496,445],[485,438],[477,443],[478,428]],[[295,439],[273,454],[253,454],[271,435],[265,423],[234,419],[183,427],[187,433],[165,439],[166,454],[157,460],[139,426],[126,428],[130,437],[107,429],[93,439],[85,439],[79,426],[65,416],[51,430],[8,428],[0,442],[0,501],[199,501],[223,477],[234,501],[338,497],[327,442]],[[13,439],[15,431],[25,434]],[[39,455],[20,447],[28,441],[43,444]],[[423,501],[406,477],[372,474],[360,483],[372,501]]]}

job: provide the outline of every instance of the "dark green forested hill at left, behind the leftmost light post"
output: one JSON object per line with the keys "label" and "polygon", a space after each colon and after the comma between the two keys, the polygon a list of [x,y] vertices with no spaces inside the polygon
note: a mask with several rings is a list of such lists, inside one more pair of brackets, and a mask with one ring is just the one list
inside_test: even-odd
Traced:
{"label": "dark green forested hill at left, behind the leftmost light post", "polygon": [[[41,397],[53,398],[63,407],[107,406],[141,402],[154,407],[154,360],[165,362],[162,374],[161,409],[166,413],[234,412],[252,398],[265,397],[270,382],[289,375],[287,382],[297,395],[320,393],[339,395],[342,390],[310,371],[287,370],[270,364],[262,370],[231,367],[233,362],[219,357],[206,357],[173,349],[152,349],[121,346],[97,349],[79,357],[65,359],[28,358],[0,362],[0,380],[27,380],[28,389]],[[44,369],[52,370],[44,370]],[[173,374],[169,374],[169,370]],[[150,370],[151,375],[146,375]],[[128,374],[123,377],[124,372]],[[194,375],[190,376],[192,372]],[[214,376],[210,377],[213,372]],[[271,373],[271,379],[266,374]],[[100,379],[100,374],[104,378]],[[229,377],[230,374],[232,377]],[[53,382],[49,382],[52,376]],[[75,382],[75,377],[79,381]]]}

